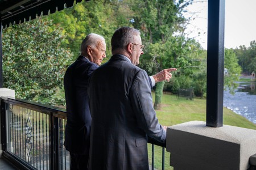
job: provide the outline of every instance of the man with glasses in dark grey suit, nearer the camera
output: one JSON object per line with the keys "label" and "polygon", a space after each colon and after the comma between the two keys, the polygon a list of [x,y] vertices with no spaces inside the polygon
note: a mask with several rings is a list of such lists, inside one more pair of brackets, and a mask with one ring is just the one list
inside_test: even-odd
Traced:
{"label": "man with glasses in dark grey suit, nearer the camera", "polygon": [[119,28],[111,45],[113,56],[89,80],[88,169],[149,169],[147,136],[164,143],[166,126],[156,118],[146,71],[135,66],[144,48],[140,32]]}

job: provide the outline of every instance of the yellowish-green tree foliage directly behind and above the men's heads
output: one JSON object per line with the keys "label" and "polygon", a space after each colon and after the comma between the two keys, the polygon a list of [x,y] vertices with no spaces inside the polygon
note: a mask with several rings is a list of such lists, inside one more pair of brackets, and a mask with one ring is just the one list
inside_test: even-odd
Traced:
{"label": "yellowish-green tree foliage directly behind and above the men's heads", "polygon": [[[113,32],[123,25],[129,26],[130,10],[127,3],[118,0],[82,1],[76,6],[49,15],[53,23],[61,23],[67,37],[63,45],[74,54],[73,60],[80,54],[80,45],[89,33],[97,33],[106,39],[107,58],[111,56],[110,39]],[[107,61],[108,59],[105,59]]]}

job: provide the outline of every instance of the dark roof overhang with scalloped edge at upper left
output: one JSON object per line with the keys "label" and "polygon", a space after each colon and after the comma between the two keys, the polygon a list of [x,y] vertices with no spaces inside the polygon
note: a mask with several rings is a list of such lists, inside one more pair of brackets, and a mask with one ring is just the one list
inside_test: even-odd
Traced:
{"label": "dark roof overhang with scalloped edge at upper left", "polygon": [[7,28],[72,7],[77,2],[81,0],[0,0],[0,22],[3,28]]}

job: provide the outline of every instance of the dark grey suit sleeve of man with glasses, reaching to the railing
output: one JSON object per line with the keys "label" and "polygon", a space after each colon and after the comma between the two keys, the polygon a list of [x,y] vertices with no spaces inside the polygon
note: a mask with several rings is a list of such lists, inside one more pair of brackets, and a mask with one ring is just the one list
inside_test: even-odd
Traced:
{"label": "dark grey suit sleeve of man with glasses, reaching to the railing", "polygon": [[155,110],[152,105],[150,82],[146,71],[140,70],[135,75],[129,95],[138,126],[148,136],[159,142],[166,141],[166,131],[158,122]]}

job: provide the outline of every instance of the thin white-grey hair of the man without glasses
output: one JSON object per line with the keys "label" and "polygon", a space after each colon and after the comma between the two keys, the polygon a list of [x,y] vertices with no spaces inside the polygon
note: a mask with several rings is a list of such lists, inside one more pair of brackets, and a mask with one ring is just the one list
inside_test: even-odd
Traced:
{"label": "thin white-grey hair of the man without glasses", "polygon": [[89,33],[81,43],[81,48],[80,48],[81,54],[83,53],[87,54],[87,47],[89,45],[92,46],[93,48],[96,48],[99,41],[105,41],[104,37],[96,33]]}

